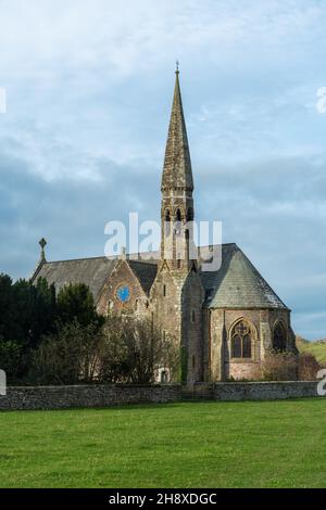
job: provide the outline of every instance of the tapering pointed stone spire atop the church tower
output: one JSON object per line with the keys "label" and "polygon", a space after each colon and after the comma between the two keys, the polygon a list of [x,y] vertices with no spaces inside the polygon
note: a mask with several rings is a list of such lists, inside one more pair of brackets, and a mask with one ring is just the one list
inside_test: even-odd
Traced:
{"label": "tapering pointed stone spire atop the church tower", "polygon": [[161,189],[165,191],[181,188],[192,191],[192,170],[180,92],[178,63],[175,75],[175,89]]}

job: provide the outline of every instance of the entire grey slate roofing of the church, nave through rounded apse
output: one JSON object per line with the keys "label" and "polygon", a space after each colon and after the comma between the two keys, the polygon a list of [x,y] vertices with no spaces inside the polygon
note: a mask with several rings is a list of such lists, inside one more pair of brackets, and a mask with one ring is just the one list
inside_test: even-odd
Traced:
{"label": "entire grey slate roofing of the church, nave through rounded apse", "polygon": [[[208,259],[212,248],[220,248],[221,268],[215,271],[200,271],[209,308],[281,308],[288,309],[273,289],[259,273],[237,244],[205,246],[200,248],[200,265]],[[127,263],[139,280],[143,291],[149,294],[158,272],[159,252],[127,256]],[[142,260],[141,260],[142,258]],[[68,283],[86,283],[95,301],[100,297],[108,278],[120,258],[95,257],[75,260],[43,263],[35,273],[34,280],[43,277],[54,283],[59,291]]]}

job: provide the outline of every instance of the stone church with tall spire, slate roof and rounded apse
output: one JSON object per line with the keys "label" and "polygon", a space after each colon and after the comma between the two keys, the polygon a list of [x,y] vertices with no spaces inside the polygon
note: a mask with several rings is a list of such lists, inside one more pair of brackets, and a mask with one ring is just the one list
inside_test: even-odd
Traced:
{"label": "stone church with tall spire, slate roof and rounded apse", "polygon": [[[150,319],[178,343],[185,383],[255,379],[268,349],[297,350],[290,309],[237,244],[215,246],[222,257],[216,270],[206,270],[202,250],[189,256],[193,178],[178,69],[161,191],[160,252],[47,262],[42,240],[33,280],[46,278],[57,291],[82,282],[100,314]],[[214,246],[205,250],[209,256]],[[160,378],[168,382],[168,372],[162,369]]]}

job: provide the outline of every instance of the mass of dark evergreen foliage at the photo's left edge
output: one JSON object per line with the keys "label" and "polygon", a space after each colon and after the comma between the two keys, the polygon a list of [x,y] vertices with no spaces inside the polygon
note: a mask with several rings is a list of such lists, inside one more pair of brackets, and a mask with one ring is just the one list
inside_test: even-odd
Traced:
{"label": "mass of dark evergreen foliage at the photo's left edge", "polygon": [[[58,336],[58,324],[73,323],[72,330],[76,331],[77,322],[86,328],[87,336],[89,324],[100,328],[103,322],[86,285],[65,286],[57,299],[54,285],[43,278],[35,283],[13,283],[9,276],[0,275],[0,368],[7,371],[10,384],[27,377],[34,352],[41,352],[38,348],[43,337]],[[79,334],[83,337],[84,332]],[[49,340],[47,349],[48,344]]]}

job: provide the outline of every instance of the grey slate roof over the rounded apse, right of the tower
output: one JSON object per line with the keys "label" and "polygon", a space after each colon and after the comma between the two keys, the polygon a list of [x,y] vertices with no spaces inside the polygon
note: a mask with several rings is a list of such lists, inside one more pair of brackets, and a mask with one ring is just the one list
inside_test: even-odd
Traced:
{"label": "grey slate roof over the rounded apse, right of the tower", "polygon": [[288,309],[237,244],[223,244],[221,269],[201,278],[209,308]]}

